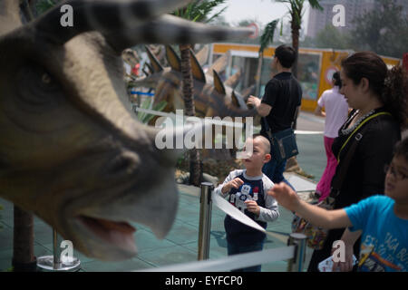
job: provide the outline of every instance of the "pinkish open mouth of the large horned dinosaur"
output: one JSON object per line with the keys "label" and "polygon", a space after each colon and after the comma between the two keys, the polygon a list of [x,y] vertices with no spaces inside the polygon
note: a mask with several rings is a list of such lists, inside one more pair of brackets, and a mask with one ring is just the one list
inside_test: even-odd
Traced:
{"label": "pinkish open mouth of the large horned dinosaur", "polygon": [[133,233],[136,231],[136,228],[127,222],[85,216],[81,216],[78,219],[92,234],[100,237],[103,241],[128,251],[136,252],[136,245],[133,239]]}

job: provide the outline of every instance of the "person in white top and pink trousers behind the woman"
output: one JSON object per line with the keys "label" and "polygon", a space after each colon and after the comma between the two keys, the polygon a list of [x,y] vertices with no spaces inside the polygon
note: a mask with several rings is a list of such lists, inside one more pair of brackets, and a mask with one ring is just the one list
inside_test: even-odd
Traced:
{"label": "person in white top and pink trousers behind the woman", "polygon": [[[330,193],[330,184],[335,175],[337,160],[332,151],[332,145],[338,136],[338,130],[345,123],[348,116],[348,104],[345,96],[340,93],[342,86],[340,73],[335,72],[332,78],[333,89],[323,92],[315,114],[325,117],[325,155],[327,156],[327,165],[323,172],[322,178],[316,187],[316,195],[320,196],[319,201],[324,200]],[[325,112],[322,111],[325,108]]]}

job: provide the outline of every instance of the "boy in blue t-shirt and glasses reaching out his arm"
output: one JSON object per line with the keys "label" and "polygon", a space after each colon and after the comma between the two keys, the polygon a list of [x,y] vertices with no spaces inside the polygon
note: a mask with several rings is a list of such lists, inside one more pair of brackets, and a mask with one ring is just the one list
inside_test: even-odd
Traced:
{"label": "boy in blue t-shirt and glasses reaching out his arm", "polygon": [[[325,228],[361,230],[359,271],[408,270],[408,138],[401,141],[386,167],[385,196],[366,198],[348,208],[325,210],[297,198],[280,183],[267,192],[283,207],[296,211],[311,224]],[[359,237],[355,235],[354,241]],[[342,238],[343,239],[343,238]]]}

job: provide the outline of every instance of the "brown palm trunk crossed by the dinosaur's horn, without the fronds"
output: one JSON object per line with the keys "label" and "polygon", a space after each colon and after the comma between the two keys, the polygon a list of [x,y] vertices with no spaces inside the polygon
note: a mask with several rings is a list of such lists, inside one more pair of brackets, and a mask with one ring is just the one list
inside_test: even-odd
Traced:
{"label": "brown palm trunk crossed by the dinosaur's horn, without the fronds", "polygon": [[[193,96],[193,78],[191,73],[191,62],[189,58],[189,49],[191,45],[180,45],[181,53],[181,74],[183,77],[182,92],[184,96],[184,108],[187,116],[195,116],[196,109]],[[189,183],[199,186],[201,182],[201,166],[199,161],[199,150],[192,149],[189,152]]]}

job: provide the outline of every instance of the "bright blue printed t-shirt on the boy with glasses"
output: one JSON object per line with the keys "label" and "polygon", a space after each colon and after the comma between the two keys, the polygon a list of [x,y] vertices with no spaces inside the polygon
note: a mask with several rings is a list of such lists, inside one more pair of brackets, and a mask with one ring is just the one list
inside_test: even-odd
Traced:
{"label": "bright blue printed t-shirt on the boy with glasses", "polygon": [[374,196],[345,208],[353,227],[362,230],[359,271],[408,270],[408,219],[393,213],[394,200]]}

